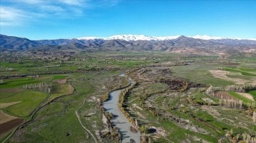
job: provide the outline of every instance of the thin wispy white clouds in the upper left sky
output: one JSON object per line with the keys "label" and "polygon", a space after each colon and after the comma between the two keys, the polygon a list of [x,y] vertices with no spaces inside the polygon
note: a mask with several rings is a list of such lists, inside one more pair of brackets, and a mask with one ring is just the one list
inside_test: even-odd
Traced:
{"label": "thin wispy white clouds in the upper left sky", "polygon": [[89,9],[114,6],[118,0],[0,0],[1,26],[22,25],[40,18],[75,18]]}

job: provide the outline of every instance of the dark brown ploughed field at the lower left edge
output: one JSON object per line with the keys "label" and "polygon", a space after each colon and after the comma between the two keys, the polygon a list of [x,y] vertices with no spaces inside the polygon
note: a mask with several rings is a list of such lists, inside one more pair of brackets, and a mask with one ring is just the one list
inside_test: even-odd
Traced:
{"label": "dark brown ploughed field at the lower left edge", "polygon": [[20,125],[22,122],[23,119],[16,118],[14,120],[10,120],[9,122],[4,122],[3,124],[0,124],[0,135],[4,134],[5,132],[8,132],[17,125]]}

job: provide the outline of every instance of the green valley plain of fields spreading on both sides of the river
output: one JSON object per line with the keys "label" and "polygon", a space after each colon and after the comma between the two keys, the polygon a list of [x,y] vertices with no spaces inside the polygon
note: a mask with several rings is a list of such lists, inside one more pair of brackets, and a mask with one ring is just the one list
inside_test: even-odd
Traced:
{"label": "green valley plain of fields spreading on both sides of the river", "polygon": [[[218,59],[216,55],[114,51],[80,52],[66,61],[21,58],[22,63],[0,62],[0,103],[22,101],[2,110],[25,120],[30,118],[33,110],[38,110],[8,142],[94,142],[82,125],[95,137],[96,132],[105,130],[98,102],[107,91],[127,85],[127,79],[119,76],[121,73],[129,73],[127,76],[138,83],[128,92],[124,107],[138,120],[139,126],[161,129],[159,132],[163,135],[146,134],[151,142],[218,142],[220,139],[230,142],[225,136],[230,130],[233,130],[230,137],[244,132],[252,137],[256,134],[250,116],[255,108],[226,108],[219,105],[220,98],[205,93],[210,85],[235,84],[210,74],[210,70],[217,70],[216,67],[230,71],[227,74],[230,78],[253,81],[256,61],[252,58]],[[191,65],[185,65],[186,62]],[[175,66],[162,66],[166,63]],[[16,77],[19,74],[25,77]],[[68,81],[58,84],[61,79]],[[169,79],[169,82],[160,79]],[[191,85],[186,85],[186,90],[181,92],[171,88],[176,86],[172,84],[175,82]],[[23,89],[26,84],[38,83],[51,83],[51,92]],[[73,93],[68,93],[68,86],[74,88]],[[252,103],[238,93],[228,93],[244,103]],[[255,90],[249,93],[256,97]],[[102,142],[116,142],[111,136],[110,133],[109,137],[102,137]],[[241,141],[242,135],[238,136]],[[3,140],[4,137],[0,139]]]}

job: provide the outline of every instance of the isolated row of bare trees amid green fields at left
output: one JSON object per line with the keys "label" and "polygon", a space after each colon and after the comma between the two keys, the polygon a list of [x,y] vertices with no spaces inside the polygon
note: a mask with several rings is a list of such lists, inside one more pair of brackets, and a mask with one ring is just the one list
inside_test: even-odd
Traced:
{"label": "isolated row of bare trees amid green fields at left", "polygon": [[33,91],[50,93],[52,84],[51,83],[25,84],[25,85],[23,85],[23,88],[33,90]]}

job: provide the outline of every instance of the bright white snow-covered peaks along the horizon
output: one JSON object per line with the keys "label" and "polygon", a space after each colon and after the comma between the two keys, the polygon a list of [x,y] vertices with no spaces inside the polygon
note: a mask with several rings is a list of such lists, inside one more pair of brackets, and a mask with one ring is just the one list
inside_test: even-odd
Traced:
{"label": "bright white snow-covered peaks along the horizon", "polygon": [[[107,38],[97,38],[97,37],[82,37],[77,38],[78,40],[126,40],[126,41],[136,41],[136,40],[173,40],[181,35],[174,36],[147,36],[147,35],[112,35]],[[256,40],[253,38],[250,39],[242,39],[242,38],[222,38],[219,36],[209,36],[209,35],[194,35],[194,36],[186,36],[188,38],[201,39],[201,40],[222,40],[222,39],[230,39],[230,40]]]}

